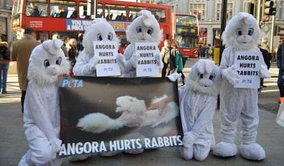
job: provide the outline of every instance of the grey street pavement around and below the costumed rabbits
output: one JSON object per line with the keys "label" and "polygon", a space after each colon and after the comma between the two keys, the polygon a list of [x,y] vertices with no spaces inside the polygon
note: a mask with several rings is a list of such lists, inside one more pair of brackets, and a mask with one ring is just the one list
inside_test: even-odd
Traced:
{"label": "grey street pavement around and below the costumed rabbits", "polygon": [[[189,58],[184,73],[187,76],[192,65],[198,59]],[[212,153],[205,161],[185,161],[180,157],[178,147],[167,147],[158,150],[145,150],[143,154],[118,154],[113,157],[102,157],[94,154],[84,162],[72,163],[64,158],[62,165],[273,165],[283,166],[284,163],[284,128],[275,123],[279,107],[279,89],[277,87],[278,69],[276,62],[270,68],[272,78],[265,79],[261,95],[259,95],[259,130],[257,143],[263,146],[266,158],[263,161],[248,161],[239,154],[231,158],[220,158]],[[181,82],[179,83],[179,85]],[[21,91],[19,89],[16,66],[10,65],[8,74],[8,94],[0,95],[0,166],[17,165],[25,152],[27,141],[23,130],[23,114],[21,112]],[[221,141],[220,112],[215,111],[213,119],[216,142]],[[239,145],[240,124],[235,143]]]}

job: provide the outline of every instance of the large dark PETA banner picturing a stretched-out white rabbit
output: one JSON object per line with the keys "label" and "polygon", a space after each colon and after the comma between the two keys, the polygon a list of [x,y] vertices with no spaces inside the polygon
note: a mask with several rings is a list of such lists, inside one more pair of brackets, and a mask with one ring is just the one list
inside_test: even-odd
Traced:
{"label": "large dark PETA banner picturing a stretched-out white rabbit", "polygon": [[[177,82],[66,76],[58,84],[60,157],[182,145]],[[163,99],[161,115],[147,110]]]}

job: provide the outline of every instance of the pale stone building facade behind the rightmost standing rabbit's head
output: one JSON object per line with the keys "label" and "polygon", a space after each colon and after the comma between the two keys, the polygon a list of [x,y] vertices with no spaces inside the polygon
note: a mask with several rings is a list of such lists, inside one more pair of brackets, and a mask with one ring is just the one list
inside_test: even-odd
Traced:
{"label": "pale stone building facade behind the rightmost standing rabbit's head", "polygon": [[[249,12],[255,16],[264,36],[268,37],[271,50],[276,51],[284,41],[284,0],[276,0],[276,15],[263,21],[265,0],[227,0],[226,22],[238,12]],[[196,14],[200,29],[200,44],[220,45],[222,0],[156,0],[155,3],[171,5],[173,12]],[[274,17],[274,18],[273,18]]]}

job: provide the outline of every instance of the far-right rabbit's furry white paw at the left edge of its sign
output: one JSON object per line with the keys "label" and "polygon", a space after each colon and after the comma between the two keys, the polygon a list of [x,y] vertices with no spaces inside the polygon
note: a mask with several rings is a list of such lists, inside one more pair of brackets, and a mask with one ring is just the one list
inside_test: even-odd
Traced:
{"label": "far-right rabbit's furry white paw at the left edge of its sign", "polygon": [[229,67],[228,69],[224,69],[224,71],[222,72],[222,75],[232,85],[238,84],[241,81],[241,78],[239,77],[239,73],[237,73],[236,64],[233,64],[233,66]]}

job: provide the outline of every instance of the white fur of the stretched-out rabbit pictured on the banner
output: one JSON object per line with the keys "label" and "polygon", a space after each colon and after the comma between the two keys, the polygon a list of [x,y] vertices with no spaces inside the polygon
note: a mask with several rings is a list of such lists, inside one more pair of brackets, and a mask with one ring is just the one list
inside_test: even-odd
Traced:
{"label": "white fur of the stretched-out rabbit pictured on the banner", "polygon": [[[153,102],[165,99],[167,95],[154,99]],[[169,102],[165,106],[162,115],[156,110],[146,110],[144,100],[132,96],[117,97],[117,109],[115,112],[122,112],[117,119],[111,119],[99,112],[88,114],[81,119],[77,126],[86,132],[101,133],[106,130],[117,130],[123,126],[142,127],[152,126],[153,128],[161,123],[168,123],[178,116],[178,106],[175,102]]]}

